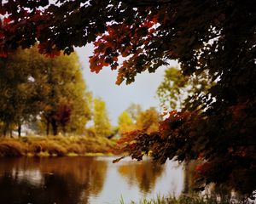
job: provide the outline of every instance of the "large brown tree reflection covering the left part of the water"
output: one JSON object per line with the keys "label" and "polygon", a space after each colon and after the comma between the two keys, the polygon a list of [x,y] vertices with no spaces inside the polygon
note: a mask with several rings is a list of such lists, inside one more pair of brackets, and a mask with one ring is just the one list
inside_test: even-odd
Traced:
{"label": "large brown tree reflection covering the left part of the water", "polygon": [[1,159],[1,203],[88,203],[102,191],[107,167],[93,157]]}

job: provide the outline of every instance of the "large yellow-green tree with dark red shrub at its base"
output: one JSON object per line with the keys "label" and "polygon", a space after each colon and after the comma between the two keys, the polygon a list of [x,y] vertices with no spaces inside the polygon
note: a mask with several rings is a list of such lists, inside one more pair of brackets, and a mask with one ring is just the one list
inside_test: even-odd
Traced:
{"label": "large yellow-green tree with dark red shrub at its base", "polygon": [[91,116],[91,94],[86,90],[78,56],[61,55],[44,60],[49,62],[45,75],[49,92],[42,114],[47,134],[49,124],[54,135],[58,133],[59,126],[63,133],[83,133]]}

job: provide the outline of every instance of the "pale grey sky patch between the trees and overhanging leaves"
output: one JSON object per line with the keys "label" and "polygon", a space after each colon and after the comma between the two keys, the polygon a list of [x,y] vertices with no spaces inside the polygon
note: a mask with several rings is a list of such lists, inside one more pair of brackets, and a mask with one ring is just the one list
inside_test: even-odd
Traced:
{"label": "pale grey sky patch between the trees and overhanging leaves", "polygon": [[[156,90],[165,74],[165,67],[160,67],[154,73],[143,72],[137,75],[135,82],[126,85],[116,85],[117,71],[104,67],[100,73],[90,72],[89,56],[93,54],[93,45],[76,48],[83,68],[83,76],[87,88],[94,98],[101,97],[107,106],[108,116],[113,125],[117,125],[118,116],[128,108],[131,103],[142,105],[143,110],[155,107],[160,111],[160,101],[156,97]],[[177,65],[175,61],[171,65]],[[170,65],[170,66],[171,66]]]}

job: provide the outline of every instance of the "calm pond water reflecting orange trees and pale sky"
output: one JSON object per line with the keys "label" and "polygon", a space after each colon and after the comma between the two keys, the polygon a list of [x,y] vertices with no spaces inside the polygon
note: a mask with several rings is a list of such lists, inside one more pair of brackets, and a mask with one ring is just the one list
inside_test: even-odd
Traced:
{"label": "calm pond water reflecting orange trees and pale sky", "polygon": [[183,168],[167,161],[114,157],[1,158],[0,203],[86,204],[125,203],[157,195],[179,195]]}

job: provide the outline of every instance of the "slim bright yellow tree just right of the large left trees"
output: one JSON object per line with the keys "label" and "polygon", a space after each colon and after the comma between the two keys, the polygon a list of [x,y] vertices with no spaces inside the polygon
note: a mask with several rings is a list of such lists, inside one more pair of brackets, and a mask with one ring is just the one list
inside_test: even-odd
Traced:
{"label": "slim bright yellow tree just right of the large left trees", "polygon": [[96,136],[108,137],[112,133],[106,104],[101,98],[94,99],[93,122]]}

